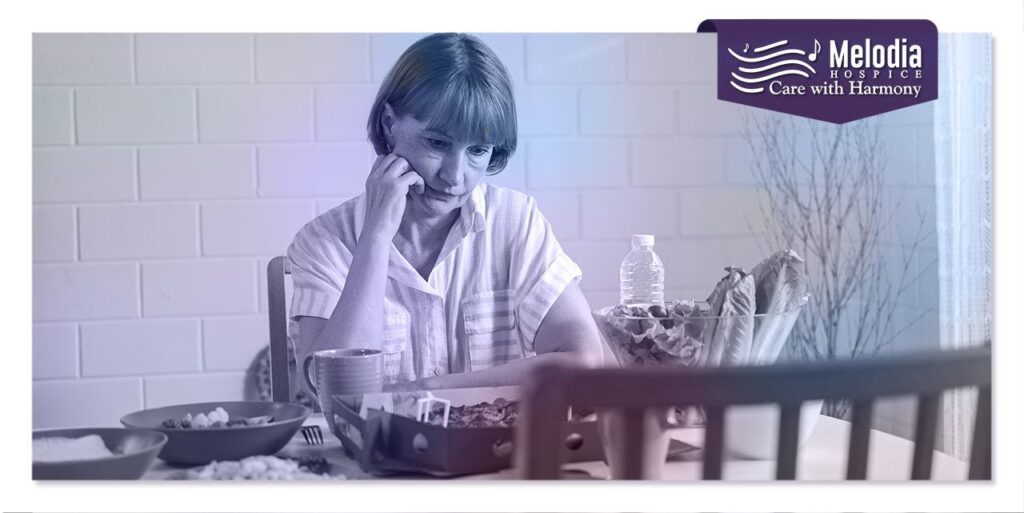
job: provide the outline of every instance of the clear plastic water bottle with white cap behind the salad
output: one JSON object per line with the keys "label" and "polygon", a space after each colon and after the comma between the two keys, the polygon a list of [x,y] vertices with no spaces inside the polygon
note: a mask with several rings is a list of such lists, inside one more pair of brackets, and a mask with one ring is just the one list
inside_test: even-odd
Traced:
{"label": "clear plastic water bottle with white cap behind the salad", "polygon": [[665,265],[654,254],[654,236],[633,236],[632,243],[618,267],[618,302],[665,305]]}

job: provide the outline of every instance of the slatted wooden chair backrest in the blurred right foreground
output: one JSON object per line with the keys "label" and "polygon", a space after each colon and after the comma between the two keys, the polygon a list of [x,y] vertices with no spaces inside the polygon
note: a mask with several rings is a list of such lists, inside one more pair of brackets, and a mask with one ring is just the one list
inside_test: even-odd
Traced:
{"label": "slatted wooden chair backrest in the blurred right foreground", "polygon": [[[811,399],[851,399],[852,430],[847,479],[864,479],[871,410],[876,398],[918,396],[911,479],[930,479],[941,392],[978,387],[969,479],[991,478],[991,350],[987,347],[897,357],[763,367],[692,369],[582,369],[558,365],[536,370],[526,381],[525,403],[517,429],[516,466],[522,478],[557,479],[561,425],[559,412],[571,404],[621,411],[624,425],[643,422],[645,409],[701,405],[707,417],[705,479],[721,479],[725,410],[732,404],[780,405],[776,479],[797,471],[800,405]],[[643,430],[639,439],[616,440],[634,448],[624,464],[628,478],[642,478]]]}

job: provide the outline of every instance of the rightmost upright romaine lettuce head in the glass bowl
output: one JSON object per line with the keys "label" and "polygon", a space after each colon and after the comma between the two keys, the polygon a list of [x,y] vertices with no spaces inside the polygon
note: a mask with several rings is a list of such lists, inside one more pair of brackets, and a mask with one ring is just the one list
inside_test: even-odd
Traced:
{"label": "rightmost upright romaine lettuce head in the glass bowl", "polygon": [[[804,259],[796,251],[779,251],[764,259],[751,270],[757,285],[757,313],[753,364],[770,364],[778,358],[785,340],[797,320],[791,312],[807,301],[807,274]],[[767,313],[768,315],[760,315]]]}

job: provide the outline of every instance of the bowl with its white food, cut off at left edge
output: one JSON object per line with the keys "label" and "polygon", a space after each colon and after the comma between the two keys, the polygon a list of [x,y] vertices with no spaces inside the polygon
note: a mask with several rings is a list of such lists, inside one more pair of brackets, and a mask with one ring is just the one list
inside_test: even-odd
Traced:
{"label": "bowl with its white food, cut off at left edge", "polygon": [[167,443],[153,430],[40,429],[32,432],[33,479],[138,479]]}

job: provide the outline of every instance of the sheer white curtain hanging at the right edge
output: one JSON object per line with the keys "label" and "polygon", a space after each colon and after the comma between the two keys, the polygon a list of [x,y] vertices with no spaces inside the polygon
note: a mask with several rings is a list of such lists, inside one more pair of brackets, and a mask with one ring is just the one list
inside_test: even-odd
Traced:
{"label": "sheer white curtain hanging at the right edge", "polygon": [[[935,104],[939,335],[943,349],[988,343],[992,315],[991,114],[988,34],[939,35]],[[976,391],[943,397],[942,450],[966,460]]]}

